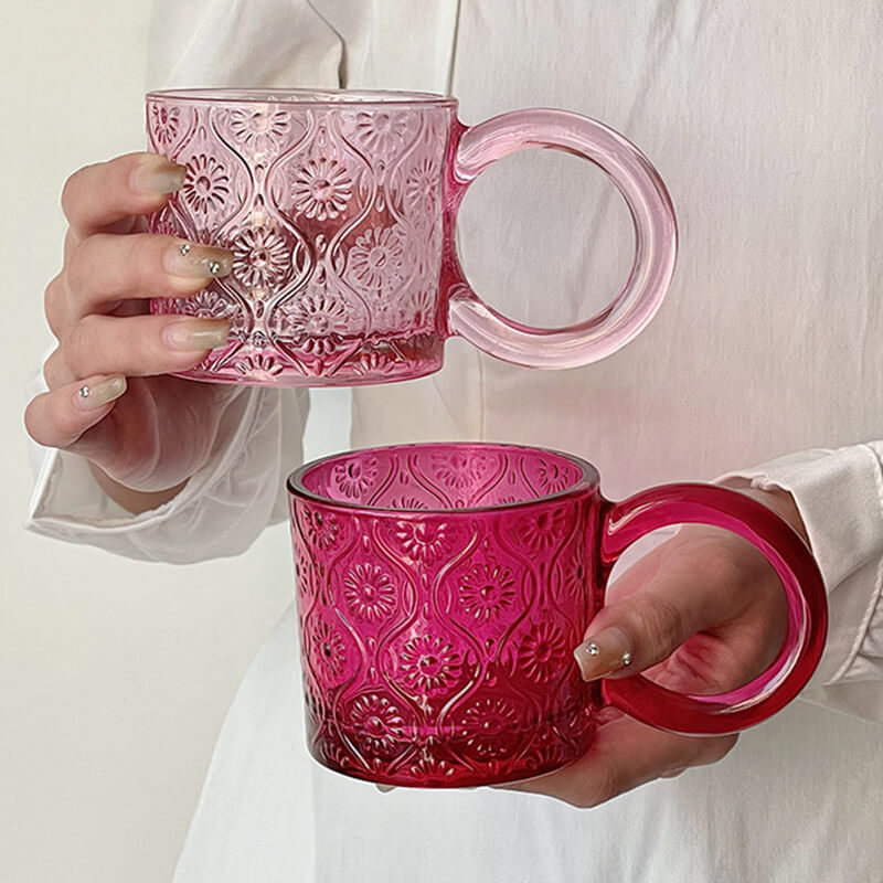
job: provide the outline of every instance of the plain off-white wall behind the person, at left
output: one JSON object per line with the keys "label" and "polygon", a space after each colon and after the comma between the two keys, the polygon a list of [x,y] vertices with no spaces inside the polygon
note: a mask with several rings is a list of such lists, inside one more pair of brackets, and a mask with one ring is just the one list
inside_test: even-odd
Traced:
{"label": "plain off-white wall behind the person, at left", "polygon": [[31,493],[24,387],[51,342],[42,296],[61,266],[58,194],[73,170],[143,146],[148,14],[148,3],[107,0],[3,8],[0,879],[9,883],[170,880],[224,712],[292,584],[281,525],[240,558],[184,567],[21,526]]}

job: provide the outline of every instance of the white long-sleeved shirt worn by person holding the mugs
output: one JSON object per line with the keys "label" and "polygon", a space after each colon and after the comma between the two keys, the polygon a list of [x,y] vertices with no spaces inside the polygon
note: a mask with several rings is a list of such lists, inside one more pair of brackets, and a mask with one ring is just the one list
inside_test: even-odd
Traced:
{"label": "white long-sleeved shirt worn by person holding the mugs", "polygon": [[[592,811],[488,789],[380,795],[318,767],[289,610],[231,709],[177,883],[880,879],[882,42],[879,0],[156,4],[150,87],[449,91],[469,124],[560,106],[638,143],[681,228],[650,327],[565,372],[451,341],[443,372],[353,391],[351,443],[546,445],[594,461],[613,499],[722,474],[786,488],[831,609],[804,701],[721,764]],[[567,156],[494,167],[458,224],[475,287],[534,325],[597,311],[630,263],[611,193]],[[140,515],[46,451],[30,526],[132,557],[236,554],[286,517],[306,413],[304,391],[244,391],[206,467]]]}

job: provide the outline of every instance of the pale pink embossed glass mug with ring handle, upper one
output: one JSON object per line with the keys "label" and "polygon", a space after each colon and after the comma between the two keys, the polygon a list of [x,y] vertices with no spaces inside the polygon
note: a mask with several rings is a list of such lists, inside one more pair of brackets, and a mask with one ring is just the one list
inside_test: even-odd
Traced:
{"label": "pale pink embossed glass mug with ring handle, upper one", "polygon": [[[153,233],[231,248],[232,273],[151,310],[226,318],[228,342],[179,376],[252,385],[355,385],[442,368],[445,339],[533,368],[573,368],[650,321],[674,269],[668,192],[628,140],[564,110],[478,126],[457,102],[395,92],[187,89],[147,95],[149,148],[187,166]],[[454,241],[469,184],[526,147],[597,163],[625,198],[636,255],[602,313],[536,329],[470,288]]]}

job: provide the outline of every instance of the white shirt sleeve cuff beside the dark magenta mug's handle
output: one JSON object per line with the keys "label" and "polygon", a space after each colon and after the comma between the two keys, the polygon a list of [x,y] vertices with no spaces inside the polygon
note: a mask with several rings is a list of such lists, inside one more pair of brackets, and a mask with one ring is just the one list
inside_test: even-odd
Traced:
{"label": "white shirt sleeve cuff beside the dark magenta mug's handle", "polygon": [[730,478],[791,494],[825,578],[828,642],[801,699],[883,720],[883,442],[804,450],[720,480]]}

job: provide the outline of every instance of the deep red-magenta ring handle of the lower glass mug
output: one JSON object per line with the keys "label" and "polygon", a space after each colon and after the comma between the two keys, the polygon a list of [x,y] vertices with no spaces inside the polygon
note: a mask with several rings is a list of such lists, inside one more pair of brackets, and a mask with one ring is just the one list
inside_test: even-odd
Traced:
{"label": "deep red-magenta ring handle of the lower glass mug", "polygon": [[781,579],[788,603],[781,649],[765,672],[726,693],[675,693],[641,674],[605,680],[602,692],[607,704],[660,730],[683,735],[735,733],[784,708],[815,671],[828,628],[825,584],[816,560],[789,524],[763,503],[711,485],[662,485],[607,503],[602,566],[609,572],[639,536],[685,522],[725,528],[763,552]]}

